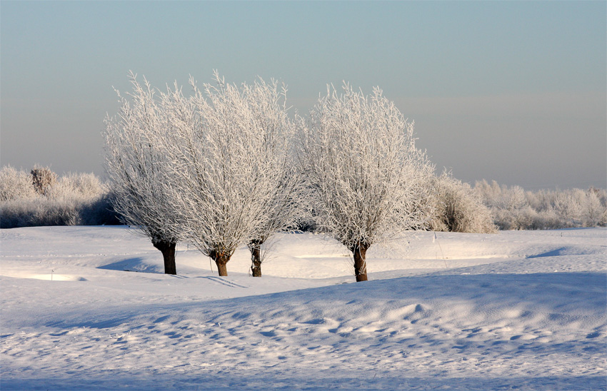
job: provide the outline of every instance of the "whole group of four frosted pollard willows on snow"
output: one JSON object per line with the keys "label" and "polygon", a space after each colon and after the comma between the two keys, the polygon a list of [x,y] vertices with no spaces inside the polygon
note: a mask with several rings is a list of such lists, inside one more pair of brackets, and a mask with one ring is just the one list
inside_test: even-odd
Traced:
{"label": "whole group of four frosted pollard willows on snow", "polygon": [[[116,210],[176,273],[175,244],[192,243],[219,275],[249,245],[253,275],[276,232],[313,215],[353,254],[366,280],[366,250],[431,219],[433,166],[406,121],[376,88],[328,88],[307,118],[289,118],[286,88],[261,78],[229,84],[218,73],[193,93],[159,91],[131,73],[133,91],[106,118],[107,171]],[[313,213],[311,213],[313,212]]]}

